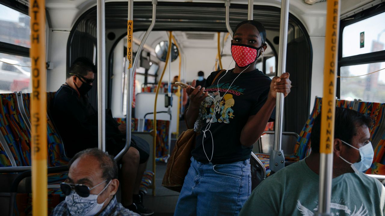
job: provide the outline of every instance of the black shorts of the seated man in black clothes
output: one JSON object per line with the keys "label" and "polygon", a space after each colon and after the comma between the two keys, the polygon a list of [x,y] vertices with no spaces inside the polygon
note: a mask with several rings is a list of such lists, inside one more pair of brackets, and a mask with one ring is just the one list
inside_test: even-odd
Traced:
{"label": "black shorts of the seated man in black clothes", "polygon": [[[120,139],[119,139],[120,140]],[[114,141],[107,141],[106,150],[110,155],[116,156],[119,154],[119,152],[122,151],[122,149],[126,146],[126,142],[124,141],[117,141],[115,138]],[[146,142],[146,140],[143,140],[142,138],[139,138],[137,136],[131,135],[131,146],[130,148],[135,148],[139,151],[139,164],[146,163],[148,158],[150,157],[150,145]]]}

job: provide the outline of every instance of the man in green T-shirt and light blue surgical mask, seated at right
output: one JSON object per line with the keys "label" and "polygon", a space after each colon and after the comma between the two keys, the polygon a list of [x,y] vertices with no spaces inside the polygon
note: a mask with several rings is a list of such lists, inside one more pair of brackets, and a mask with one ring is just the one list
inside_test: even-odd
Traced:
{"label": "man in green T-shirt and light blue surgical mask, seated at right", "polygon": [[[336,108],[331,215],[385,214],[384,186],[362,173],[373,161],[368,129],[371,123],[371,118],[357,111]],[[251,193],[240,216],[317,215],[320,129],[321,114],[311,129],[311,154],[263,180]]]}

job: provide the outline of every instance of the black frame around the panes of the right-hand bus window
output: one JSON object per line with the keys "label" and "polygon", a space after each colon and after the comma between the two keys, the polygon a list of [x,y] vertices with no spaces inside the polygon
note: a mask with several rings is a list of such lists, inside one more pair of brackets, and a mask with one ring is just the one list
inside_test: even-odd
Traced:
{"label": "black frame around the panes of the right-hand bus window", "polygon": [[[384,12],[385,12],[385,2],[382,2],[382,3],[379,3],[378,5],[368,8],[367,10],[363,10],[362,12],[356,13],[355,15],[344,18],[343,20],[340,21],[340,32],[339,32],[340,38],[338,40],[338,68],[337,68],[338,76],[341,75],[341,67],[343,66],[362,65],[362,64],[384,61],[385,50],[372,52],[372,53],[353,55],[348,57],[342,57],[342,33],[345,27]],[[336,96],[337,98],[341,97],[341,80],[338,77],[337,77]]]}

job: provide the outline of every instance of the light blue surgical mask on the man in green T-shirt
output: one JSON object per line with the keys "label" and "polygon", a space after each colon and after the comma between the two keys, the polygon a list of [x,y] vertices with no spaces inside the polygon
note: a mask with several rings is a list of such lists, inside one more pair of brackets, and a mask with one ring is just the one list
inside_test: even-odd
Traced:
{"label": "light blue surgical mask on the man in green T-shirt", "polygon": [[345,143],[346,145],[348,146],[351,146],[352,148],[354,148],[355,150],[358,150],[360,151],[360,156],[361,156],[361,161],[360,162],[356,162],[356,163],[350,163],[349,161],[345,160],[344,158],[342,158],[340,156],[340,158],[342,160],[344,160],[346,163],[348,164],[351,164],[352,166],[352,169],[358,173],[358,172],[363,172],[367,169],[370,168],[370,166],[372,166],[372,163],[373,163],[373,157],[374,157],[374,151],[373,151],[373,147],[372,147],[372,143],[369,142],[367,143],[366,145],[360,147],[360,148],[356,148],[352,145],[350,145],[349,143],[346,143],[345,141],[341,140],[343,143]]}

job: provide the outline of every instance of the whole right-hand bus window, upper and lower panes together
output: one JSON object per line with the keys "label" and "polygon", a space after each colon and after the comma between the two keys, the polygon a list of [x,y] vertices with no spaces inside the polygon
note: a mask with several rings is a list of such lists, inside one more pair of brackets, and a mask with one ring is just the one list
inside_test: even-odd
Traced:
{"label": "whole right-hand bus window, upper and lower panes together", "polygon": [[341,20],[337,96],[385,102],[385,7],[368,8]]}

